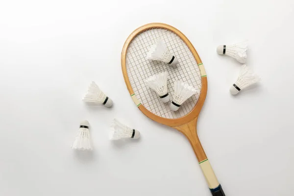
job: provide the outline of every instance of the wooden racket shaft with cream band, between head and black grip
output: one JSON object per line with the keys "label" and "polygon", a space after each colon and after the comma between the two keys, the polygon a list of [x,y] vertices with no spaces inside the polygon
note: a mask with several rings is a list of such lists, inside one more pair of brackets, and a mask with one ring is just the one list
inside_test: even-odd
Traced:
{"label": "wooden racket shaft with cream band, between head and black grip", "polygon": [[207,157],[204,152],[204,149],[199,141],[199,138],[197,136],[196,132],[196,122],[197,118],[189,123],[175,126],[174,128],[182,132],[189,140],[191,146],[193,147],[193,150],[196,154],[197,160],[199,162],[199,165],[201,167],[201,170],[205,176],[205,179],[207,181],[208,187],[211,190],[214,190],[218,187],[220,187],[220,183],[217,179],[217,176],[215,175]]}

